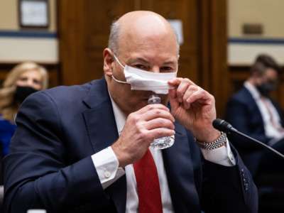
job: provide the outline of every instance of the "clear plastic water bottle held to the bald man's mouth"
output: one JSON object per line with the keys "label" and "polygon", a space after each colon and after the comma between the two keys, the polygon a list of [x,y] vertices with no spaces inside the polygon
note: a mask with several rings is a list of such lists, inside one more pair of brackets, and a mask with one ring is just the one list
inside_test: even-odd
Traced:
{"label": "clear plastic water bottle held to the bald man's mouth", "polygon": [[[160,97],[157,94],[152,94],[148,99],[148,104],[160,104]],[[162,138],[155,138],[150,144],[151,148],[164,149],[173,146],[175,142],[175,135]]]}

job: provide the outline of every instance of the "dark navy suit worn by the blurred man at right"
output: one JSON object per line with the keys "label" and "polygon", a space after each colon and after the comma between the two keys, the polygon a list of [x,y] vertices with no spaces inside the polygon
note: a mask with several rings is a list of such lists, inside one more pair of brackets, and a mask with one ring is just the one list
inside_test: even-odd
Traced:
{"label": "dark navy suit worn by the blurred man at right", "polygon": [[[283,125],[284,119],[280,107],[272,100],[271,102],[275,109],[277,109]],[[229,99],[226,107],[226,121],[239,131],[263,143],[268,143],[271,140],[271,138],[265,135],[261,111],[258,109],[255,100],[246,87],[242,87],[239,92]],[[251,173],[253,175],[256,174],[261,156],[263,155],[263,147],[238,137],[229,136],[229,138],[239,151],[246,166],[251,170]]]}

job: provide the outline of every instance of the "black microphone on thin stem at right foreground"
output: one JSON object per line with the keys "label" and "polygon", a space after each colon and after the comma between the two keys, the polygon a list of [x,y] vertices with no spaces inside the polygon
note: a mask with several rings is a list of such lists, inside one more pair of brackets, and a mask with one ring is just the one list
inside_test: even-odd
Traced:
{"label": "black microphone on thin stem at right foreground", "polygon": [[239,136],[242,136],[244,138],[249,139],[250,141],[253,141],[255,143],[260,144],[261,146],[268,148],[270,151],[273,151],[273,153],[279,155],[280,157],[284,158],[284,155],[278,151],[276,151],[274,148],[271,148],[271,146],[267,146],[265,143],[262,143],[261,141],[256,140],[255,138],[251,138],[250,136],[247,136],[245,133],[242,133],[235,129],[231,124],[228,122],[222,120],[222,119],[214,119],[212,122],[212,125],[215,129],[219,131],[223,131],[224,133],[236,133]]}

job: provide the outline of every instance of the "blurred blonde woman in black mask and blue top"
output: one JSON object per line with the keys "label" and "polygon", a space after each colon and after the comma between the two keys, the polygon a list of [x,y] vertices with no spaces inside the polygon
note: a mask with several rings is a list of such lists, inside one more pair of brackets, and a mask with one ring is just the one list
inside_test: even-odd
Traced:
{"label": "blurred blonde woman in black mask and blue top", "polygon": [[48,87],[48,72],[35,62],[23,62],[9,72],[0,89],[0,143],[2,155],[9,153],[9,143],[16,129],[15,117],[29,94]]}

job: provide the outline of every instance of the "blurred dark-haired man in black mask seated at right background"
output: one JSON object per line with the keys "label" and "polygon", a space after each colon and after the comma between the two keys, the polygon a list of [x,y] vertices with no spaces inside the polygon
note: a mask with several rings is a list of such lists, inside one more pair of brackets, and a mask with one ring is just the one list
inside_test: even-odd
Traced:
{"label": "blurred dark-haired man in black mask seated at right background", "polygon": [[[239,131],[275,146],[284,136],[283,113],[270,98],[276,89],[280,67],[269,55],[258,55],[251,67],[251,75],[244,87],[234,94],[226,107],[226,121]],[[262,146],[251,141],[231,138],[246,166],[253,175],[263,156]]]}

